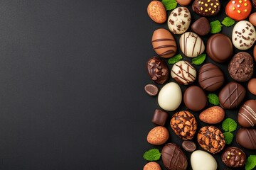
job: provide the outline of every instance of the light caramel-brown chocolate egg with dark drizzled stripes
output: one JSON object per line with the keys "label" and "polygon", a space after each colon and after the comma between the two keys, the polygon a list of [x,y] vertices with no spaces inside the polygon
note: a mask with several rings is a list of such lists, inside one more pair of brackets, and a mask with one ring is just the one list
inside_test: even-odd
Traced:
{"label": "light caramel-brown chocolate egg with dark drizzled stripes", "polygon": [[169,30],[159,28],[154,31],[152,36],[153,48],[160,57],[173,57],[177,51],[176,41]]}

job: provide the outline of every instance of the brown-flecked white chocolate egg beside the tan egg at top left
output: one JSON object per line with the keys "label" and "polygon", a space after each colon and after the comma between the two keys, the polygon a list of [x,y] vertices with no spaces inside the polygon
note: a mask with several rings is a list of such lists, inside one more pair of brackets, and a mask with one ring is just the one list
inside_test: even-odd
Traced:
{"label": "brown-flecked white chocolate egg beside the tan egg at top left", "polygon": [[182,34],[188,30],[191,23],[191,13],[186,7],[175,8],[168,18],[168,27],[174,34]]}

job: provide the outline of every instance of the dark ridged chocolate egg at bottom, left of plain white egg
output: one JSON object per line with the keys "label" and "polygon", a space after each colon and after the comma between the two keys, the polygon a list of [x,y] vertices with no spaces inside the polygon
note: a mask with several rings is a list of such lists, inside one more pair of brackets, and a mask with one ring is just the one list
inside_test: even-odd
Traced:
{"label": "dark ridged chocolate egg at bottom, left of plain white egg", "polygon": [[163,147],[161,159],[166,169],[169,170],[185,170],[188,166],[186,155],[174,143],[168,143]]}

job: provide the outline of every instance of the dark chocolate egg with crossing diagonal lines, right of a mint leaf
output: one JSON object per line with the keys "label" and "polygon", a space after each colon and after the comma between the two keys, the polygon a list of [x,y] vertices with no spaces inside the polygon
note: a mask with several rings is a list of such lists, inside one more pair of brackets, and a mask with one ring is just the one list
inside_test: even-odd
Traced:
{"label": "dark chocolate egg with crossing diagonal lines, right of a mint leaf", "polygon": [[245,98],[245,88],[236,83],[230,82],[221,89],[219,93],[220,106],[227,109],[237,108]]}

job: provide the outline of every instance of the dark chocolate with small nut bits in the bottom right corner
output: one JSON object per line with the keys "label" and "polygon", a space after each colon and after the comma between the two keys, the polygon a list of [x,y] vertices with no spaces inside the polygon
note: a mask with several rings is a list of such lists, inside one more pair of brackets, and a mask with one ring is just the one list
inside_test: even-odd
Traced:
{"label": "dark chocolate with small nut bits in the bottom right corner", "polygon": [[222,162],[232,168],[241,168],[245,166],[246,155],[238,147],[228,147],[221,155]]}

